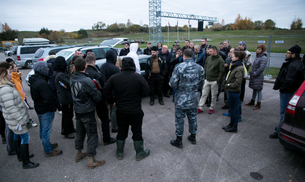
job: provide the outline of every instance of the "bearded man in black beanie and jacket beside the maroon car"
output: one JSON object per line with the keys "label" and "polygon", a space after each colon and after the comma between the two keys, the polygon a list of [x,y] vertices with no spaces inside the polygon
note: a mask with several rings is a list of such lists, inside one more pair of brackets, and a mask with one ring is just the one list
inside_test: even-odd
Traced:
{"label": "bearded man in black beanie and jacket beside the maroon car", "polygon": [[274,83],[274,90],[280,90],[280,123],[276,132],[269,135],[270,138],[278,138],[280,124],[283,120],[286,106],[292,94],[297,91],[304,81],[304,64],[300,58],[301,47],[292,46],[286,53],[285,61]]}

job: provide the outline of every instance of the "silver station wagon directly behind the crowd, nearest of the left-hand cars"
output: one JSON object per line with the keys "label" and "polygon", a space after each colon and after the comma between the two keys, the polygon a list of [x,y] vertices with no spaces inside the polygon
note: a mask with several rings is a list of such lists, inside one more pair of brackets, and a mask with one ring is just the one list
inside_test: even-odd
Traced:
{"label": "silver station wagon directly behind the crowd, nearest of the left-hand cars", "polygon": [[[94,52],[95,57],[96,57],[96,67],[99,70],[99,68],[102,66],[103,63],[106,62],[106,51],[112,49],[116,52],[116,54],[119,56],[119,52],[114,49],[114,47],[109,46],[109,45],[90,45],[90,46],[82,46],[82,47],[71,47],[68,49],[64,49],[62,51],[59,51],[56,56],[63,56],[66,59],[67,64],[69,65],[74,53],[76,50],[80,49],[80,51],[83,54],[86,54],[86,51],[88,49],[91,49],[92,52]],[[30,86],[29,83],[29,78],[34,74],[34,70],[30,71],[27,77],[25,78],[26,83]]]}

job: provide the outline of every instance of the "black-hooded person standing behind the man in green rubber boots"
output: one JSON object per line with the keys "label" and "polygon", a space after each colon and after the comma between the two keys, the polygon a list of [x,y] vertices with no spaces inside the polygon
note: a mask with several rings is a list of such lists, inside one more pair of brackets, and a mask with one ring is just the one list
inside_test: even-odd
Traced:
{"label": "black-hooded person standing behind the man in green rubber boots", "polygon": [[[119,73],[120,69],[115,66],[116,60],[117,60],[117,54],[113,50],[108,50],[106,52],[106,62],[101,66],[100,72],[103,76],[104,83],[107,82],[107,80],[114,74]],[[112,95],[114,97],[114,93]],[[116,122],[116,107],[115,105],[111,106],[111,132],[117,132],[118,131],[118,125]]]}

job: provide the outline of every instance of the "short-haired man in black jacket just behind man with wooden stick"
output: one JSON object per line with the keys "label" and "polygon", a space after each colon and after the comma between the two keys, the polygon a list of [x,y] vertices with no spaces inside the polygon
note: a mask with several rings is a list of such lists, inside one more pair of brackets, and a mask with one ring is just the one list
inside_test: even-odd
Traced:
{"label": "short-haired man in black jacket just behind man with wooden stick", "polygon": [[[101,73],[99,73],[97,71],[97,68],[94,67],[95,60],[96,60],[96,58],[93,55],[86,56],[87,69],[85,70],[85,73],[88,74],[88,76],[89,76],[89,78],[91,78],[91,80],[94,80],[96,83],[100,84],[101,88],[98,88],[98,90],[102,93],[103,87],[104,87],[104,79],[103,79]],[[109,112],[108,112],[108,108],[107,108],[107,105],[106,105],[104,99],[102,99],[98,102],[95,102],[95,106],[96,106],[95,109],[97,111],[97,115],[102,122],[104,145],[114,143],[116,139],[110,137]]]}

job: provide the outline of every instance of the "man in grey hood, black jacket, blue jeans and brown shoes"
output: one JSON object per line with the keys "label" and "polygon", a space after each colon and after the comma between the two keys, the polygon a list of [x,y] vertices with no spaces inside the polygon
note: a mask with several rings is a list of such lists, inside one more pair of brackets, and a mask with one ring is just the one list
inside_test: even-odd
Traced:
{"label": "man in grey hood, black jacket, blue jeans and brown shoes", "polygon": [[29,78],[31,97],[34,101],[34,109],[40,124],[40,139],[45,150],[46,157],[58,156],[63,152],[55,150],[57,143],[50,143],[52,124],[56,111],[56,101],[50,85],[48,84],[48,64],[39,61],[34,67],[35,74]]}

